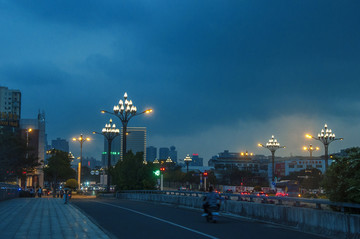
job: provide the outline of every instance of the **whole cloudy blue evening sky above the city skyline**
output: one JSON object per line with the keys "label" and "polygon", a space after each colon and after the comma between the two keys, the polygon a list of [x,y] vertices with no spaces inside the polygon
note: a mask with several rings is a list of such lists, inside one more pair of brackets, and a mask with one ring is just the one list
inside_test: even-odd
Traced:
{"label": "whole cloudy blue evening sky above the city skyline", "polygon": [[[46,113],[48,139],[100,131],[127,92],[148,146],[207,161],[257,148],[307,155],[325,123],[360,145],[359,1],[0,0],[0,85],[22,92],[22,118]],[[114,119],[114,122],[116,119]],[[118,122],[119,123],[119,122]],[[100,158],[100,136],[84,155]],[[70,142],[75,154],[79,145]],[[314,153],[320,155],[320,153]]]}

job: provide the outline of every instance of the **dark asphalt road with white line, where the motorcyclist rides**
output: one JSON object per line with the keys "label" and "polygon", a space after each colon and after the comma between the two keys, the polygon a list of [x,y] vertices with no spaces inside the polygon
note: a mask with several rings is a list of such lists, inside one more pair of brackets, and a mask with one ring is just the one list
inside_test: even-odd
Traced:
{"label": "dark asphalt road with white line, where the motorcyclist rides", "polygon": [[118,199],[74,199],[71,203],[114,238],[324,238],[241,218],[222,216],[216,224],[207,223],[197,210],[164,204]]}

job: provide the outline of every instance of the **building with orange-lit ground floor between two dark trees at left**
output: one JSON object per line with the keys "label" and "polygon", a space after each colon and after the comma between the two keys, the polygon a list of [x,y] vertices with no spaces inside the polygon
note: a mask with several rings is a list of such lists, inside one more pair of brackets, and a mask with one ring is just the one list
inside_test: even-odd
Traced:
{"label": "building with orange-lit ground floor between two dark trees at left", "polygon": [[[32,129],[29,132],[29,129]],[[27,143],[32,151],[30,153],[35,154],[38,157],[38,166],[34,172],[26,175],[26,186],[32,187],[44,187],[44,160],[46,154],[46,138],[45,138],[45,113],[38,114],[37,119],[21,119],[20,129],[22,137],[27,139]],[[24,186],[25,182],[20,182],[19,185]]]}

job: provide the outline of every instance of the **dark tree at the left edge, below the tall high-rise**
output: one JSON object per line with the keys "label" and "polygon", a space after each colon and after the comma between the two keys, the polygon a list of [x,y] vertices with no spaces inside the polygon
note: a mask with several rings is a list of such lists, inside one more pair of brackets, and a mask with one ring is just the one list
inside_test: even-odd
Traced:
{"label": "dark tree at the left edge, below the tall high-rise", "polygon": [[25,179],[26,172],[39,166],[38,158],[31,152],[19,133],[0,133],[0,181]]}

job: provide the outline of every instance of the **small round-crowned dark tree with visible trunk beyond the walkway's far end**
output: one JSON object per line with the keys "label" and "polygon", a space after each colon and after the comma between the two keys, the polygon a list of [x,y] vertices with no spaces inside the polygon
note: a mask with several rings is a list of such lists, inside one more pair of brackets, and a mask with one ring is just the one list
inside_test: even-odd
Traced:
{"label": "small round-crowned dark tree with visible trunk beyond the walkway's far end", "polygon": [[54,195],[58,182],[75,178],[76,172],[71,168],[71,160],[67,152],[52,150],[52,156],[44,168],[45,180],[53,183]]}

